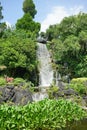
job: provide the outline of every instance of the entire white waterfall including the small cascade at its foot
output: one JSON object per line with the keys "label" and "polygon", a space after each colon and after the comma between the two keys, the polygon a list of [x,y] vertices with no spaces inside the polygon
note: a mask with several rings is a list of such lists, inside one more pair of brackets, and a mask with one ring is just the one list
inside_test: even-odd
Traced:
{"label": "entire white waterfall including the small cascade at its foot", "polygon": [[49,87],[53,81],[53,70],[51,66],[51,58],[46,44],[37,43],[37,57],[39,60],[39,87],[40,92],[33,95],[33,100],[38,101],[47,98],[46,87]]}

